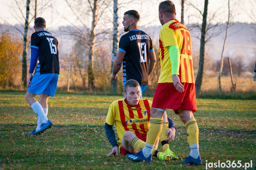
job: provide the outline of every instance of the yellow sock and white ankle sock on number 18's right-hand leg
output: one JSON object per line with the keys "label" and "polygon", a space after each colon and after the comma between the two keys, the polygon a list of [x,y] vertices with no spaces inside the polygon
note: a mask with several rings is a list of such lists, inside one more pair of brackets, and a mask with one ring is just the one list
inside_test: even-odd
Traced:
{"label": "yellow sock and white ankle sock on number 18's right-hand leg", "polygon": [[197,159],[199,156],[199,142],[198,142],[199,129],[198,129],[195,118],[189,120],[185,124],[185,128],[187,129],[187,141],[190,146],[189,155]]}

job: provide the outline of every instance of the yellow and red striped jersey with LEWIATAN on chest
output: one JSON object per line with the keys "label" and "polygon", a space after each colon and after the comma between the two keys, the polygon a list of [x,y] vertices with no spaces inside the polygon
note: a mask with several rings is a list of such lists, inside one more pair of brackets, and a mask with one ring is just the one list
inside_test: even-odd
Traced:
{"label": "yellow and red striped jersey with LEWIATAN on chest", "polygon": [[149,128],[150,108],[152,101],[140,99],[139,104],[131,106],[126,98],[113,101],[109,106],[106,123],[115,124],[119,147],[122,145],[123,134],[130,130],[135,135],[146,134]]}

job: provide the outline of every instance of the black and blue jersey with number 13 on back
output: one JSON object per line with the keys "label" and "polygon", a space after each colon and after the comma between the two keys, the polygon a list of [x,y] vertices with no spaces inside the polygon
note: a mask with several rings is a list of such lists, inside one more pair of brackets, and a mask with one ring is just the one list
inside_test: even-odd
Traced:
{"label": "black and blue jersey with number 13 on back", "polygon": [[123,59],[123,85],[134,79],[140,85],[148,84],[149,52],[154,51],[149,35],[141,30],[131,30],[120,38],[119,51]]}

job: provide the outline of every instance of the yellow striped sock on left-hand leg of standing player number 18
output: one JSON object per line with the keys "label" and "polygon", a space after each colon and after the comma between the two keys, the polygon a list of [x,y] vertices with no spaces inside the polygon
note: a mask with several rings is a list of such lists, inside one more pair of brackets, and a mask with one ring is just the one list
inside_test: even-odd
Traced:
{"label": "yellow striped sock on left-hand leg of standing player number 18", "polygon": [[163,129],[163,118],[150,118],[150,127],[147,132],[146,144],[155,145],[157,137],[160,135]]}

